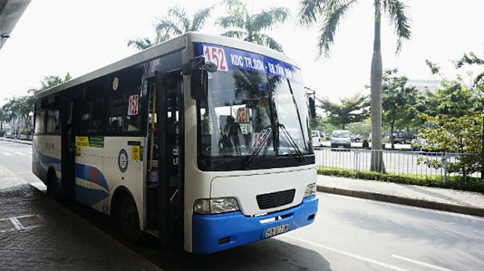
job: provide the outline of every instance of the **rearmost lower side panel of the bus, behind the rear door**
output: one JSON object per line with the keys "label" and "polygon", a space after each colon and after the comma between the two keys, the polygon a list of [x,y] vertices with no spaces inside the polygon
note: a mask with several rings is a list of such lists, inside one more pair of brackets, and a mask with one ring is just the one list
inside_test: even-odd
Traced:
{"label": "rearmost lower side panel of the bus, behind the rear door", "polygon": [[55,169],[61,183],[61,136],[34,135],[32,140],[32,172],[44,184],[49,167]]}

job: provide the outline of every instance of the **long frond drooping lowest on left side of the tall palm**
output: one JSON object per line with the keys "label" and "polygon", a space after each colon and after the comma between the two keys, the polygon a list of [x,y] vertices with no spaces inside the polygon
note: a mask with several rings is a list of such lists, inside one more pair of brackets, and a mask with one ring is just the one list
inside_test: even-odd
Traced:
{"label": "long frond drooping lowest on left side of the tall palm", "polygon": [[335,6],[325,11],[325,20],[322,28],[319,30],[318,48],[319,56],[323,53],[326,57],[329,56],[329,47],[333,44],[335,38],[335,31],[339,24],[339,19],[344,17],[344,13],[351,7],[357,0],[345,1],[337,3]]}

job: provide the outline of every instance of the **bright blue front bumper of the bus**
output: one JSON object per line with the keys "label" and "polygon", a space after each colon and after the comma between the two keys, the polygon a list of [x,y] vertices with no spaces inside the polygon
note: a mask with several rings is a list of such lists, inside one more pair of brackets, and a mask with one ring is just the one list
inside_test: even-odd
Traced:
{"label": "bright blue front bumper of the bus", "polygon": [[[289,225],[295,230],[313,223],[317,212],[316,196],[304,198],[300,205],[265,216],[248,217],[241,212],[227,214],[193,214],[193,252],[207,254],[227,250],[265,239],[266,229]],[[261,220],[281,216],[282,219],[261,223]]]}

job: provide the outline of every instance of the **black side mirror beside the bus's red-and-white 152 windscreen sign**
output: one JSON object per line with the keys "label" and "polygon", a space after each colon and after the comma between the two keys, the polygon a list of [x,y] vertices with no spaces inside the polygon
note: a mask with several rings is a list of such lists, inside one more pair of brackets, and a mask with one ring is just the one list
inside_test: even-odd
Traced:
{"label": "black side mirror beside the bus's red-and-white 152 windscreen sign", "polygon": [[190,96],[194,100],[203,100],[208,95],[208,73],[217,71],[216,64],[205,62],[205,57],[195,57],[191,59],[188,66],[184,68],[184,73],[190,74]]}

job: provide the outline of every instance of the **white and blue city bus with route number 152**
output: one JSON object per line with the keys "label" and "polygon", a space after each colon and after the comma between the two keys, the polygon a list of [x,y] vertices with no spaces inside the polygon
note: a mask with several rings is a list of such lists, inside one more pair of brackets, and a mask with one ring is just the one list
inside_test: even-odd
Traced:
{"label": "white and blue city bus with route number 152", "polygon": [[188,32],[37,93],[32,171],[131,241],[218,252],[313,223],[310,115],[290,58]]}

